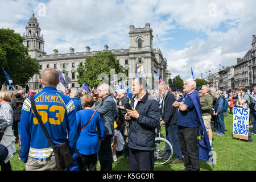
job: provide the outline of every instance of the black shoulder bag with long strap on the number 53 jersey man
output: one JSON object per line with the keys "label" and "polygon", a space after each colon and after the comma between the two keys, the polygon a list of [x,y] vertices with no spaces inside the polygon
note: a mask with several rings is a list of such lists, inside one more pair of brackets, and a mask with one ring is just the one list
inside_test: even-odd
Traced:
{"label": "black shoulder bag with long strap on the number 53 jersey man", "polygon": [[48,131],[46,130],[46,126],[44,126],[42,118],[40,117],[40,115],[38,114],[38,111],[36,110],[34,96],[31,96],[30,102],[31,102],[32,109],[35,113],[35,116],[38,119],[38,122],[44,131],[44,134],[46,134],[48,142],[49,144],[51,144],[51,147],[55,155],[55,162],[56,162],[57,169],[64,170],[66,168],[69,168],[73,164],[73,158],[69,150],[68,140],[66,140],[64,143],[59,144],[59,146],[56,146],[55,144],[53,144],[51,138],[49,137]]}

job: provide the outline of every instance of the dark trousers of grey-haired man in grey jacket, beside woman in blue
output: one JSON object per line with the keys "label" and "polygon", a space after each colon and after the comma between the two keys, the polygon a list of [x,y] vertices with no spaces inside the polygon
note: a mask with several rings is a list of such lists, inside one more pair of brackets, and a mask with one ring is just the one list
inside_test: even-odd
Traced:
{"label": "dark trousers of grey-haired man in grey jacket, beside woman in blue", "polygon": [[101,141],[100,150],[98,151],[98,159],[100,160],[101,171],[112,171],[112,137],[113,135],[106,135],[105,139]]}

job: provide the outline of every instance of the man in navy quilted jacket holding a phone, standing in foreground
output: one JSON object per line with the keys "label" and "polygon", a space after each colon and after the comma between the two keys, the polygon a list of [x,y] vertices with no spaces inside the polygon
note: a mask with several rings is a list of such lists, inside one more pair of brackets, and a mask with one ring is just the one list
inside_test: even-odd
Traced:
{"label": "man in navy quilted jacket holding a phone, standing in foreground", "polygon": [[126,109],[125,119],[130,122],[128,146],[130,171],[154,169],[155,129],[160,127],[160,109],[156,100],[146,91],[144,78],[135,78],[131,88],[133,110]]}

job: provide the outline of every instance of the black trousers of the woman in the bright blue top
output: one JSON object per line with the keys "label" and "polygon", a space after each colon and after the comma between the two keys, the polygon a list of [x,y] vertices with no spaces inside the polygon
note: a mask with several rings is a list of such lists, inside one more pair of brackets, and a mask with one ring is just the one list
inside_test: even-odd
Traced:
{"label": "black trousers of the woman in the bright blue top", "polygon": [[77,164],[80,171],[86,171],[87,167],[89,171],[96,171],[97,153],[92,155],[79,154],[79,157],[77,158]]}

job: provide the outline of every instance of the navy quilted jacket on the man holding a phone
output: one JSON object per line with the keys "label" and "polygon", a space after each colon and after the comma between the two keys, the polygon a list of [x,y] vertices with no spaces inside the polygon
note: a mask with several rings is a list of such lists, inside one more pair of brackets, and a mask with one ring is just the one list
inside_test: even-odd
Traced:
{"label": "navy quilted jacket on the man holding a phone", "polygon": [[[131,100],[134,107],[134,98]],[[128,146],[135,150],[153,151],[155,146],[155,129],[160,127],[160,109],[154,97],[148,92],[142,97],[134,108],[139,113],[139,118],[131,118]]]}

